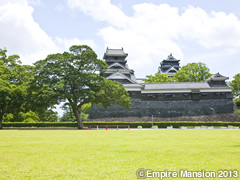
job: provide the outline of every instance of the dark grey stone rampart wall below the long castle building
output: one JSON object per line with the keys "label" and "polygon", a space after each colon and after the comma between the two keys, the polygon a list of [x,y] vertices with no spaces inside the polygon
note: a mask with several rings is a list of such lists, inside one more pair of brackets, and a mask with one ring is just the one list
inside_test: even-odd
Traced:
{"label": "dark grey stone rampart wall below the long castle building", "polygon": [[[234,103],[232,99],[214,100],[181,100],[181,101],[143,101],[132,98],[131,109],[127,110],[118,105],[108,108],[93,106],[90,110],[89,119],[118,119],[120,121],[141,121],[153,116],[157,121],[189,121],[204,119],[202,116],[211,115],[210,121],[229,121],[224,118],[231,117],[231,121],[237,121],[232,116],[224,114],[234,113]],[[221,119],[221,120],[220,120]]]}

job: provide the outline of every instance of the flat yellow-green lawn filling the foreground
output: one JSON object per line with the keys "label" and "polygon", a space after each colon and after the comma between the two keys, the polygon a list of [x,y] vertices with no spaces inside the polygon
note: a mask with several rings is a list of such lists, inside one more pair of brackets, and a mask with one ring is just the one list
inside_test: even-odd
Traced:
{"label": "flat yellow-green lawn filling the foreground", "polygon": [[239,171],[240,131],[0,131],[0,179],[137,179],[139,168]]}

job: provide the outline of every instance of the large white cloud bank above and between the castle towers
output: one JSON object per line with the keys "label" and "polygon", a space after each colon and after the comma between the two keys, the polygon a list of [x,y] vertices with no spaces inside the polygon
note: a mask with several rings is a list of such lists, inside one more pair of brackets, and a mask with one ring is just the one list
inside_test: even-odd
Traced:
{"label": "large white cloud bank above and between the castle towers", "polygon": [[[206,50],[221,48],[226,56],[231,54],[228,49],[235,52],[240,48],[240,21],[234,14],[207,13],[192,6],[179,13],[168,4],[142,3],[133,6],[133,16],[127,16],[110,0],[68,0],[68,4],[96,21],[107,22],[98,35],[106,47],[124,47],[130,67],[145,71],[141,76],[155,73],[159,62],[171,52],[184,59],[185,42],[198,43]],[[213,54],[217,53],[206,52],[207,59],[218,58]]]}

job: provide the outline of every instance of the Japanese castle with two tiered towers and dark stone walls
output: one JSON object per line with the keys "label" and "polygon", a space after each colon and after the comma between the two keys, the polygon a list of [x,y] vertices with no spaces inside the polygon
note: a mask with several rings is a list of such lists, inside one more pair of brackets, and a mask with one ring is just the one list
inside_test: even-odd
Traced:
{"label": "Japanese castle with two tiered towers and dark stone walls", "polygon": [[[205,82],[144,83],[129,69],[122,49],[108,49],[103,59],[108,69],[101,74],[123,84],[131,97],[131,109],[118,105],[92,106],[89,120],[94,121],[237,121],[232,88],[228,77],[214,74]],[[172,76],[180,69],[172,54],[160,63],[158,71]]]}

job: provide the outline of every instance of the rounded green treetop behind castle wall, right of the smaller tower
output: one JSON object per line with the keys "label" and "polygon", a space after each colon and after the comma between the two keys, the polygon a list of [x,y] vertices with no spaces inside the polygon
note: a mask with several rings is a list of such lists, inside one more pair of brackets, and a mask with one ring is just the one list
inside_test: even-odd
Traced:
{"label": "rounded green treetop behind castle wall, right of the smaller tower", "polygon": [[209,68],[204,63],[189,63],[173,75],[176,82],[203,82],[211,77]]}

